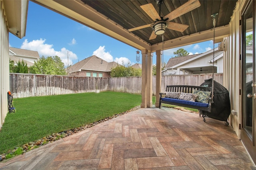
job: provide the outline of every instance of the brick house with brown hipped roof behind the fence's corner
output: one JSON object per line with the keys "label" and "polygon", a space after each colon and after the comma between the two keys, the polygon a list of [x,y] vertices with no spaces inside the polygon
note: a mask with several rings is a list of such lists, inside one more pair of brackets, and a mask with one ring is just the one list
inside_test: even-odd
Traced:
{"label": "brick house with brown hipped roof behind the fence's corner", "polygon": [[[110,77],[111,69],[118,63],[110,62],[93,55],[70,66],[69,75],[86,76],[86,77]],[[120,65],[120,64],[119,64]]]}

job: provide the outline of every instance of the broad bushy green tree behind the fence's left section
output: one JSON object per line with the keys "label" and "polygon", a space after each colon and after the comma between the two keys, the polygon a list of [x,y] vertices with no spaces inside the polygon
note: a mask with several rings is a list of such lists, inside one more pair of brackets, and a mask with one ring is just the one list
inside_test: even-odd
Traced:
{"label": "broad bushy green tree behind the fence's left section", "polygon": [[30,67],[30,73],[34,74],[52,74],[52,75],[66,75],[64,63],[60,57],[47,57],[42,56],[38,61]]}

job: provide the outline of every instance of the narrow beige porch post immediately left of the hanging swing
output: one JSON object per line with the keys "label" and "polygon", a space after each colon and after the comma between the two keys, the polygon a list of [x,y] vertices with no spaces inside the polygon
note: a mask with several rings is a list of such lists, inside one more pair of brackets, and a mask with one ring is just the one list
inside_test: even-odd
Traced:
{"label": "narrow beige porch post immediately left of the hanging swing", "polygon": [[[161,50],[156,51],[156,107],[159,107],[160,90],[162,80],[162,59]],[[165,88],[165,87],[164,87]]]}

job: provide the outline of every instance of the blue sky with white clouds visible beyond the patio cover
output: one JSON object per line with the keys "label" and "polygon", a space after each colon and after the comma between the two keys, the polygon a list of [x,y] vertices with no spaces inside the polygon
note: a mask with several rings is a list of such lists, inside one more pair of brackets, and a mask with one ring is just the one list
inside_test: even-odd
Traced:
{"label": "blue sky with white clouds visible beyond the patio cover", "polygon": [[[67,51],[69,52],[69,64],[75,64],[92,55],[96,55],[105,61],[115,61],[119,64],[132,65],[141,63],[136,61],[136,51],[116,39],[108,37],[94,29],[86,27],[65,16],[57,14],[34,2],[29,1],[26,36],[19,39],[10,33],[10,47],[38,51],[39,56],[48,57],[57,55],[67,65]],[[186,45],[164,51],[164,62],[174,57],[173,52],[184,48],[188,53],[204,53],[212,49],[212,41]],[[153,55],[153,64],[156,64],[156,54]]]}

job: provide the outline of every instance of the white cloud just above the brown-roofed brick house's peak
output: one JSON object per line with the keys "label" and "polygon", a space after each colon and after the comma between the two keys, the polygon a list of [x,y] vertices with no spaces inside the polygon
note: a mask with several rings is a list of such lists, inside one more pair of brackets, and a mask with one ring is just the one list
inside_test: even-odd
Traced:
{"label": "white cloud just above the brown-roofed brick house's peak", "polygon": [[100,46],[98,49],[96,49],[92,55],[96,55],[97,57],[100,57],[101,59],[107,61],[107,62],[112,62],[115,61],[118,64],[122,64],[124,62],[124,65],[127,66],[127,64],[130,62],[128,58],[126,57],[120,57],[120,58],[115,58],[110,54],[110,52],[106,52],[105,45]]}

